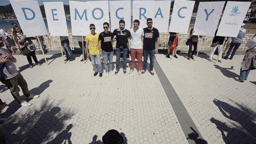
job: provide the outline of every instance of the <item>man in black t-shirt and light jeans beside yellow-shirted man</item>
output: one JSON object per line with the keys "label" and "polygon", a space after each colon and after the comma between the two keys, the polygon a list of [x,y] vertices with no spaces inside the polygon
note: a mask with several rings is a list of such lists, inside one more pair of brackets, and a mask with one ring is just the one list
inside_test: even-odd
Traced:
{"label": "man in black t-shirt and light jeans beside yellow-shirted man", "polygon": [[[113,33],[109,29],[109,23],[103,23],[104,31],[99,34],[99,48],[102,49],[102,55],[104,60],[104,68],[106,71],[106,77],[109,77],[109,72],[113,75],[112,61],[113,61],[113,45],[112,40],[115,41]],[[109,62],[109,65],[108,65]]]}

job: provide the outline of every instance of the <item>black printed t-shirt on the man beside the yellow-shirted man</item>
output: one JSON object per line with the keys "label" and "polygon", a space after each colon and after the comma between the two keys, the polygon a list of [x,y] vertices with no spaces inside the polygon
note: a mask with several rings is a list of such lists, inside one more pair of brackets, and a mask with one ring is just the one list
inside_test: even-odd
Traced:
{"label": "black printed t-shirt on the man beside the yellow-shirted man", "polygon": [[[102,38],[103,34],[103,38]],[[101,40],[101,49],[105,52],[112,52],[113,51],[113,45],[112,45],[112,39],[114,38],[114,35],[109,31],[108,34],[106,34],[104,31],[99,34],[99,40]]]}

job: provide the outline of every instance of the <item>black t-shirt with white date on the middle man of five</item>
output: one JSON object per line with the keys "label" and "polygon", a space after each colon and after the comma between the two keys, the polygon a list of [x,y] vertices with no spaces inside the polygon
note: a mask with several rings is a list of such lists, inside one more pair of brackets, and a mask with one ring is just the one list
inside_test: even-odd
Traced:
{"label": "black t-shirt with white date on the middle man of five", "polygon": [[120,46],[123,46],[123,48],[128,48],[128,37],[131,36],[131,33],[129,30],[125,29],[122,31],[118,31],[115,29],[113,31],[113,35],[116,35],[116,48],[120,48]]}

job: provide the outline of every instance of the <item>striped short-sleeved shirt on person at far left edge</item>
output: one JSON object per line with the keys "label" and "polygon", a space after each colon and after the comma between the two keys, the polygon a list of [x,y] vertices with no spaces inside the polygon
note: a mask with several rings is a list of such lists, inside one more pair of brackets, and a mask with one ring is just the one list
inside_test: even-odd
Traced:
{"label": "striped short-sleeved shirt on person at far left edge", "polygon": [[[0,49],[0,53],[2,55],[6,54],[6,55],[12,56],[12,54],[10,54],[10,52],[7,49],[3,49],[3,48]],[[1,56],[0,56],[0,60],[2,60]],[[2,68],[2,66],[3,66],[3,63],[0,63],[0,68]],[[3,67],[3,73],[4,73],[3,79],[10,79],[18,75],[18,70],[12,60],[8,60],[5,63]]]}

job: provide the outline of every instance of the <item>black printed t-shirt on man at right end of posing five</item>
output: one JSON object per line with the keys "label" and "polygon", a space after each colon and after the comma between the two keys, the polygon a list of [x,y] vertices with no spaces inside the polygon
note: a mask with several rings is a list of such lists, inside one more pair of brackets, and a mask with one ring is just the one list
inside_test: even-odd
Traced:
{"label": "black printed t-shirt on man at right end of posing five", "polygon": [[149,30],[144,28],[143,50],[153,50],[156,48],[156,38],[159,37],[159,32],[156,28]]}

